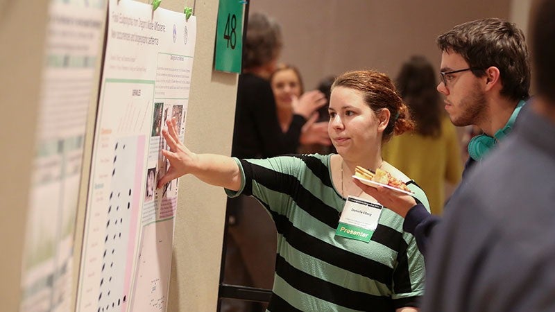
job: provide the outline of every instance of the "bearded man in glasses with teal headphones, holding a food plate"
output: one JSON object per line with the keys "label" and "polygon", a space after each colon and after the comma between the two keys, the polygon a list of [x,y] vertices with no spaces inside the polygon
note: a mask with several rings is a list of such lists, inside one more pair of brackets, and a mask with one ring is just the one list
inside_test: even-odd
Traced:
{"label": "bearded man in glasses with teal headphones, holding a food plate", "polygon": [[[470,141],[470,157],[463,171],[492,149],[513,128],[516,116],[529,97],[529,52],[524,33],[513,23],[480,19],[455,26],[437,39],[441,49],[441,83],[445,110],[457,126],[477,125],[484,132]],[[418,249],[425,254],[432,229],[440,218],[421,203],[384,187],[355,183],[382,205],[404,217],[403,229],[414,234]],[[449,205],[445,207],[445,211]]]}

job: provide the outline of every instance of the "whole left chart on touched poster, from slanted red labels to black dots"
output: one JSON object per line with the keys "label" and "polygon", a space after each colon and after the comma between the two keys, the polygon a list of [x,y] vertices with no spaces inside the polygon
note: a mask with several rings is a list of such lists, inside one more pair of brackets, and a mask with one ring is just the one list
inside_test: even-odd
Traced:
{"label": "whole left chart on touched poster, from slanted red labels to black dots", "polygon": [[108,80],[102,95],[107,102],[121,101],[119,110],[108,107],[100,112],[102,125],[96,130],[78,310],[127,311],[147,193],[153,83]]}

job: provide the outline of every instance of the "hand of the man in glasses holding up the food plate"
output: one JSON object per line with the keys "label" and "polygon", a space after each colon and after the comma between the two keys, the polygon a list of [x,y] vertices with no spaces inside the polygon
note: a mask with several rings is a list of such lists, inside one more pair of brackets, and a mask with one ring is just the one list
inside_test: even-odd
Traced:
{"label": "hand of the man in glasses holding up the food plate", "polygon": [[369,187],[355,178],[353,178],[353,181],[364,193],[372,196],[380,204],[384,205],[384,207],[403,218],[407,216],[407,213],[412,207],[416,206],[416,200],[410,195],[381,186]]}

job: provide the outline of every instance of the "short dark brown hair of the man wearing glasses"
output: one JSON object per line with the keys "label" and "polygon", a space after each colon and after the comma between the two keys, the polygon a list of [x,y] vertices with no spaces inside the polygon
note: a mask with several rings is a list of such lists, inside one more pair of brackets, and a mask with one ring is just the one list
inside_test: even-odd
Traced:
{"label": "short dark brown hair of the man wearing glasses", "polygon": [[443,52],[460,54],[478,77],[485,69],[499,69],[501,94],[512,100],[529,97],[530,57],[524,33],[514,23],[501,19],[479,19],[455,26],[437,39]]}

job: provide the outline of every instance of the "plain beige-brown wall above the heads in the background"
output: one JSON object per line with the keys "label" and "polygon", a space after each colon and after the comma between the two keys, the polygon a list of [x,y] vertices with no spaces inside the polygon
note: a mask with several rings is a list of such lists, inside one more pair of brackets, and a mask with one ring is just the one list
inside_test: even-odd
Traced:
{"label": "plain beige-brown wall above the heads in the background", "polygon": [[311,89],[324,76],[350,69],[377,69],[394,78],[416,53],[438,67],[438,35],[464,21],[508,19],[510,5],[510,0],[253,0],[250,11],[282,24],[280,60],[297,65]]}

